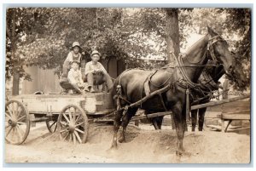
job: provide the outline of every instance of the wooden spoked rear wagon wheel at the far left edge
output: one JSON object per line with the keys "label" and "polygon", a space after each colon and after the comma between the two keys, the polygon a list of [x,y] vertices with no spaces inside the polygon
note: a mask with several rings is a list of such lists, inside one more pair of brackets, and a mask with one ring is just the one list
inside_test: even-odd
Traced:
{"label": "wooden spoked rear wagon wheel at the far left edge", "polygon": [[26,140],[30,130],[29,113],[17,100],[10,100],[5,105],[5,140],[13,145],[20,145]]}

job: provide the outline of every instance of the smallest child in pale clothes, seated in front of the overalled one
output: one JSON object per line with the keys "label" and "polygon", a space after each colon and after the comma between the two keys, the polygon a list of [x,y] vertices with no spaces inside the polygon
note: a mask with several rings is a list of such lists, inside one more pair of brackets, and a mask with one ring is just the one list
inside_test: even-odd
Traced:
{"label": "smallest child in pale clothes, seated in front of the overalled one", "polygon": [[82,73],[79,70],[79,62],[77,60],[72,61],[71,69],[67,74],[67,80],[71,83],[77,93],[83,93],[84,81],[82,79]]}

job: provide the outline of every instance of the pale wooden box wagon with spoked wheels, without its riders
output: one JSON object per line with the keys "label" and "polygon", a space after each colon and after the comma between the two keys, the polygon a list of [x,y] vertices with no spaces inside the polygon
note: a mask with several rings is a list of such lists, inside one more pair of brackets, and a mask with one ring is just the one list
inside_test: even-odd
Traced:
{"label": "pale wooden box wagon with spoked wheels, without its riders", "polygon": [[5,105],[5,140],[22,144],[31,125],[45,122],[49,132],[60,128],[62,140],[84,143],[88,120],[113,111],[111,94],[22,94]]}

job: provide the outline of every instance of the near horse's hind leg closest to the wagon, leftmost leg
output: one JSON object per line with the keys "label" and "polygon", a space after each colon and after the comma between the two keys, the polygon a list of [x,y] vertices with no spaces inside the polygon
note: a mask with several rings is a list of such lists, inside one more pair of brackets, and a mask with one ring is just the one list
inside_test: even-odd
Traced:
{"label": "near horse's hind leg closest to the wagon, leftmost leg", "polygon": [[119,132],[119,127],[121,125],[121,118],[123,116],[124,110],[117,111],[113,120],[113,142],[111,148],[117,148],[117,134]]}

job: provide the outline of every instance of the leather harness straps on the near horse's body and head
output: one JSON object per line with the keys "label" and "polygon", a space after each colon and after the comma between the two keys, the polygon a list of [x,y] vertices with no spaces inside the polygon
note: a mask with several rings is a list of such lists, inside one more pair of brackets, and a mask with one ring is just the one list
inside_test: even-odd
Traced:
{"label": "leather harness straps on the near horse's body and head", "polygon": [[[212,47],[212,45],[214,43],[217,43],[218,41],[224,41],[224,39],[217,35],[217,36],[214,36],[214,37],[210,37],[209,38],[209,41],[207,43],[207,52],[210,53],[210,57],[212,58],[213,61],[217,62],[218,59],[216,57],[216,55],[214,54],[214,49]],[[186,88],[186,120],[188,121],[189,120],[189,95],[191,94],[190,92],[190,88],[193,88],[195,90],[201,90],[201,92],[203,92],[203,90],[201,88],[202,85],[201,83],[194,83],[190,80],[190,78],[188,77],[188,74],[187,74],[187,71],[184,69],[186,67],[205,67],[205,66],[216,66],[216,65],[196,65],[195,63],[193,65],[189,65],[189,66],[185,66],[183,64],[183,60],[182,60],[182,55],[179,55],[178,58],[176,57],[176,55],[172,52],[172,54],[174,55],[174,59],[176,60],[176,63],[177,63],[177,66],[164,66],[162,67],[163,69],[164,68],[177,68],[178,71],[181,73],[182,77],[183,77],[183,80],[185,81],[185,88]],[[185,57],[187,57],[187,55],[185,55]],[[201,59],[204,60],[206,57],[208,57],[208,55],[204,54],[203,58]],[[186,58],[186,60],[188,60]],[[188,60],[189,61],[189,60]],[[189,62],[190,63],[190,62]],[[191,63],[190,63],[191,64]],[[177,82],[175,83],[171,83],[169,82],[170,78],[172,77],[172,74],[170,77],[168,77],[166,79],[166,81],[160,85],[155,85],[155,83],[153,83],[151,81],[151,78],[154,76],[154,74],[158,71],[154,71],[153,74],[149,75],[148,77],[148,82],[151,83],[154,87],[156,88],[160,88],[161,86],[164,86],[166,83],[168,83],[164,88],[160,88],[158,90],[155,90],[154,92],[151,92],[150,94],[146,95],[145,97],[143,97],[141,100],[138,100],[137,102],[135,103],[132,103],[128,100],[125,100],[123,97],[122,97],[122,92],[121,92],[121,77],[123,76],[123,74],[126,72],[126,71],[129,71],[131,69],[128,69],[128,70],[125,70],[120,76],[119,76],[119,80],[118,80],[118,85],[117,85],[117,88],[116,88],[116,91],[117,91],[117,95],[115,95],[113,97],[113,99],[117,99],[117,111],[121,111],[121,110],[127,110],[129,107],[135,107],[137,105],[142,105],[143,102],[145,102],[146,100],[150,99],[151,97],[153,97],[154,95],[161,95],[163,94],[164,92],[168,91],[170,88],[172,88],[174,86],[175,83],[178,83],[181,81],[181,80],[178,80]],[[212,80],[211,80],[212,81]],[[183,87],[182,85],[180,85],[181,87]],[[183,87],[184,88],[184,87]],[[192,94],[191,94],[192,95]],[[125,100],[126,103],[128,103],[129,105],[125,105],[124,107],[121,107],[120,105],[120,100]],[[160,96],[160,100],[161,102],[163,103],[163,99],[162,99],[162,96]],[[164,108],[166,109],[166,106],[165,104],[163,103],[163,106]],[[166,109],[167,110],[167,109]],[[116,111],[113,111],[113,112],[116,112]]]}

